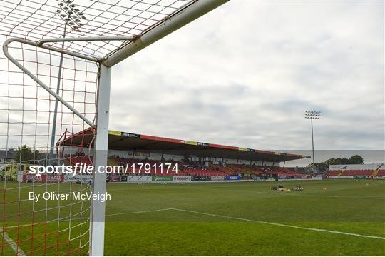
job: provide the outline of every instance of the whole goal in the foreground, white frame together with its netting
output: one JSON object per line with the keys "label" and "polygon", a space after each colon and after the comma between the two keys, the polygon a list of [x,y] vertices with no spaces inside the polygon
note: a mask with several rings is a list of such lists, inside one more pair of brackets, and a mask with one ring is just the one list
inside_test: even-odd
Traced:
{"label": "whole goal in the foreground, white frame together with its netting", "polygon": [[[87,246],[92,256],[103,255],[105,203],[29,201],[26,189],[88,189],[83,183],[62,183],[66,178],[61,176],[29,176],[26,169],[51,161],[106,166],[111,66],[226,1],[0,0],[2,255],[84,254]],[[53,124],[56,135],[50,131]],[[58,145],[54,158],[48,154],[51,138],[89,126],[94,143]],[[31,183],[22,184],[26,181]],[[93,191],[106,191],[106,174],[93,177]]]}

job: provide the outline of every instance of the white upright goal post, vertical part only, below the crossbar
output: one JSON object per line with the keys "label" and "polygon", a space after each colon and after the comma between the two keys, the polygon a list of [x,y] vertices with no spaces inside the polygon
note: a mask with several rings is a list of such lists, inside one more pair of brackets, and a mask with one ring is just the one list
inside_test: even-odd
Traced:
{"label": "white upright goal post, vertical part only, below the crossbar", "polygon": [[[96,116],[96,142],[93,176],[93,193],[106,193],[106,173],[98,173],[98,167],[107,165],[108,150],[108,117],[110,114],[111,68],[101,64],[98,84],[98,114]],[[91,202],[91,256],[103,256],[104,221],[106,201],[92,200]]]}

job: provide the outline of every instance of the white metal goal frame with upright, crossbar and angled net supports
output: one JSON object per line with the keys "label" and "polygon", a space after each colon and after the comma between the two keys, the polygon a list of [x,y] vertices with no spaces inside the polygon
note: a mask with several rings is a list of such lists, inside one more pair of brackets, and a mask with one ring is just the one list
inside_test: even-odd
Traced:
{"label": "white metal goal frame with upright, crossbar and angled net supports", "polygon": [[[146,46],[153,44],[155,41],[162,39],[164,36],[180,29],[185,24],[194,21],[195,19],[207,14],[213,9],[225,4],[229,0],[197,0],[192,1],[183,9],[176,11],[174,14],[168,16],[167,19],[161,21],[155,26],[150,27],[140,36],[114,36],[114,37],[79,37],[79,38],[58,38],[58,39],[41,39],[41,41],[31,41],[28,39],[20,39],[12,37],[7,39],[3,45],[4,55],[14,63],[19,69],[24,71],[31,79],[36,81],[39,86],[43,87],[55,99],[61,102],[64,106],[70,109],[73,114],[83,119],[88,125],[96,129],[96,141],[94,149],[94,167],[107,165],[108,157],[108,122],[110,109],[110,92],[111,92],[111,67],[118,64],[120,61],[127,59],[129,56],[144,49]],[[53,42],[68,42],[68,41],[127,41],[120,49],[107,54],[102,58],[87,56],[85,54],[60,49],[51,46],[47,43]],[[22,64],[20,64],[14,57],[9,54],[8,46],[12,42],[19,42],[21,44],[29,44],[42,49],[56,51],[61,54],[68,54],[70,56],[95,61],[98,64],[98,93],[96,99],[96,124],[83,116],[73,106],[68,104],[61,96],[58,96],[55,91],[51,90],[43,83],[37,76],[32,74]],[[93,178],[93,192],[106,192],[106,173],[95,173]],[[105,212],[106,202],[98,200],[91,200],[91,223],[90,223],[90,243],[89,254],[91,256],[103,256],[104,254],[104,228],[105,228]]]}

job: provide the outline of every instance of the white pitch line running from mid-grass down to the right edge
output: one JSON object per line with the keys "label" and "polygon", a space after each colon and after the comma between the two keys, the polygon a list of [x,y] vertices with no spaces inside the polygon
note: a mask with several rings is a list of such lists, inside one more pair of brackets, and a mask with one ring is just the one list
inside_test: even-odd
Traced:
{"label": "white pitch line running from mid-grass down to the right edge", "polygon": [[293,225],[287,225],[287,224],[282,224],[282,223],[274,223],[274,222],[267,222],[267,221],[256,221],[256,220],[252,220],[252,219],[249,219],[249,218],[236,218],[236,217],[218,215],[218,214],[213,214],[213,213],[202,213],[200,211],[189,211],[189,210],[183,210],[183,209],[178,209],[178,208],[172,208],[172,209],[175,210],[175,211],[184,211],[184,212],[188,212],[188,213],[197,213],[197,214],[202,214],[202,215],[207,215],[207,216],[215,216],[215,217],[220,217],[220,218],[230,218],[230,219],[234,219],[234,220],[238,220],[238,221],[250,221],[250,222],[268,224],[268,225],[273,225],[273,226],[282,226],[282,227],[286,227],[286,228],[298,228],[298,229],[304,229],[304,230],[309,230],[309,231],[337,233],[337,234],[346,235],[346,236],[359,236],[361,238],[376,238],[376,239],[385,240],[385,237],[381,237],[381,236],[367,236],[367,235],[361,235],[361,234],[357,234],[357,233],[348,233],[348,232],[342,232],[342,231],[330,231],[330,230],[323,229],[323,228],[307,228],[307,227],[293,226]]}

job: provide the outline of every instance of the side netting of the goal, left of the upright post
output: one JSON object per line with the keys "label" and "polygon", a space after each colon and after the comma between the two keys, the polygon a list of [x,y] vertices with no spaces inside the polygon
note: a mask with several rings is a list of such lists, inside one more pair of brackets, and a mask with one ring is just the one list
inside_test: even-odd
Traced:
{"label": "side netting of the goal, left of the upright post", "polygon": [[[1,36],[0,41],[6,37]],[[98,66],[36,46],[12,44],[9,53],[89,120],[96,117]],[[58,79],[61,69],[61,79]],[[77,149],[61,149],[61,136],[89,127],[60,101],[36,84],[4,56],[0,58],[1,254],[86,254],[89,201],[43,200],[43,193],[71,194],[90,190],[86,183],[66,183],[63,175],[29,174],[29,166],[73,163]],[[55,130],[53,132],[53,130]],[[51,143],[53,141],[53,147]],[[65,150],[65,151],[63,151]],[[30,192],[37,201],[30,200]]]}

